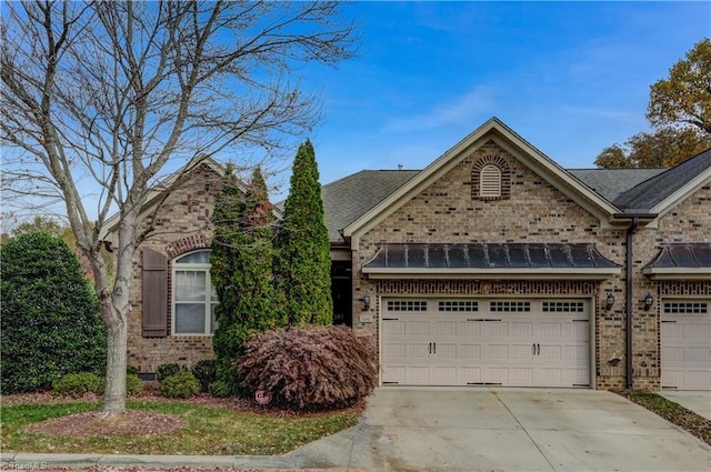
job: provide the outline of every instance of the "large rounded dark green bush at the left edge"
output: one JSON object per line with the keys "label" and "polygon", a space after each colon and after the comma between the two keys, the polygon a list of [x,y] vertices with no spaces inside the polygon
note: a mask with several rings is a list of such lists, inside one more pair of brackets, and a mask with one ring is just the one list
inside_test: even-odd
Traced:
{"label": "large rounded dark green bush at the left edge", "polygon": [[99,303],[61,239],[27,233],[0,251],[0,392],[44,389],[106,365]]}

